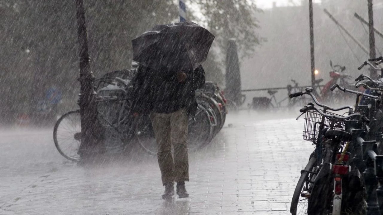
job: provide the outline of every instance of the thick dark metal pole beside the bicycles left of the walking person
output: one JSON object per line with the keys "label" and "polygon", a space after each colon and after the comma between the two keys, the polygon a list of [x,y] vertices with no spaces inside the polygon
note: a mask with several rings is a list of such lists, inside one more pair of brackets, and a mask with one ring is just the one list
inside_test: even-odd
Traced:
{"label": "thick dark metal pole beside the bicycles left of the walking person", "polygon": [[90,71],[90,57],[88,52],[88,39],[87,29],[85,23],[85,10],[82,0],[76,0],[77,6],[77,36],[79,39],[79,57],[80,57],[80,94],[79,94],[79,106],[80,106],[80,118],[81,118],[81,145],[79,148],[79,155],[83,159],[89,157],[95,147],[93,139],[93,126],[96,122],[97,110],[92,101],[94,99],[94,90],[92,82],[94,76]]}

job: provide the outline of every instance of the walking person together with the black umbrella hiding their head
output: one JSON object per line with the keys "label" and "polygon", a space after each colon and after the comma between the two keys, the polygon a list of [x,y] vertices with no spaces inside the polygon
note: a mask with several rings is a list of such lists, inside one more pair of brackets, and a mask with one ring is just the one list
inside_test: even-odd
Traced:
{"label": "walking person together with the black umbrella hiding their head", "polygon": [[188,119],[198,107],[195,90],[205,83],[201,64],[213,40],[207,29],[190,21],[158,24],[132,40],[133,60],[140,64],[133,81],[133,109],[150,112],[163,199],[174,195],[174,182],[178,197],[189,196]]}

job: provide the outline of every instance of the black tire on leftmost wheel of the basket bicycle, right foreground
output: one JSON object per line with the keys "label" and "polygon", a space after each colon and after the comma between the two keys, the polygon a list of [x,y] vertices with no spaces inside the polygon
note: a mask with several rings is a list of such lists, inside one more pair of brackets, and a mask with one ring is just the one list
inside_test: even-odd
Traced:
{"label": "black tire on leftmost wheel of the basket bicycle, right foreground", "polygon": [[[316,164],[316,157],[315,156],[311,156],[311,158],[310,158],[309,162],[307,163],[306,167],[304,168],[304,170],[312,171],[312,169],[314,168],[315,164]],[[307,211],[307,202],[306,202],[306,208],[304,209],[303,208],[304,205],[302,205],[301,209],[303,209],[303,210],[300,210],[300,212],[297,213],[298,212],[298,203],[300,202],[299,198],[301,196],[301,191],[303,189],[303,184],[306,182],[308,176],[309,176],[308,172],[303,172],[301,174],[301,177],[298,180],[298,183],[296,184],[295,191],[294,191],[294,194],[293,194],[293,198],[291,199],[291,205],[290,205],[290,213],[291,213],[291,215],[305,214],[304,212]],[[303,213],[301,213],[301,212],[303,212]]]}

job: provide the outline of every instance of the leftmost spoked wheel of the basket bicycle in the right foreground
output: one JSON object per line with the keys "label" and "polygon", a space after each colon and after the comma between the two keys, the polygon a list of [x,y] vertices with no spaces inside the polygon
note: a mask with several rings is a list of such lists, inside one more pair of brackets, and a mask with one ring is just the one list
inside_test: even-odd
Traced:
{"label": "leftmost spoked wheel of the basket bicycle in the right foreground", "polygon": [[298,183],[296,184],[290,205],[290,213],[292,215],[307,214],[308,198],[310,197],[310,195],[306,191],[309,191],[309,188],[312,185],[310,181],[313,180],[313,174],[307,171],[313,171],[313,168],[315,166],[316,157],[312,156],[309,162],[307,163],[306,167],[304,168],[305,171],[301,173],[301,177],[299,178]]}

